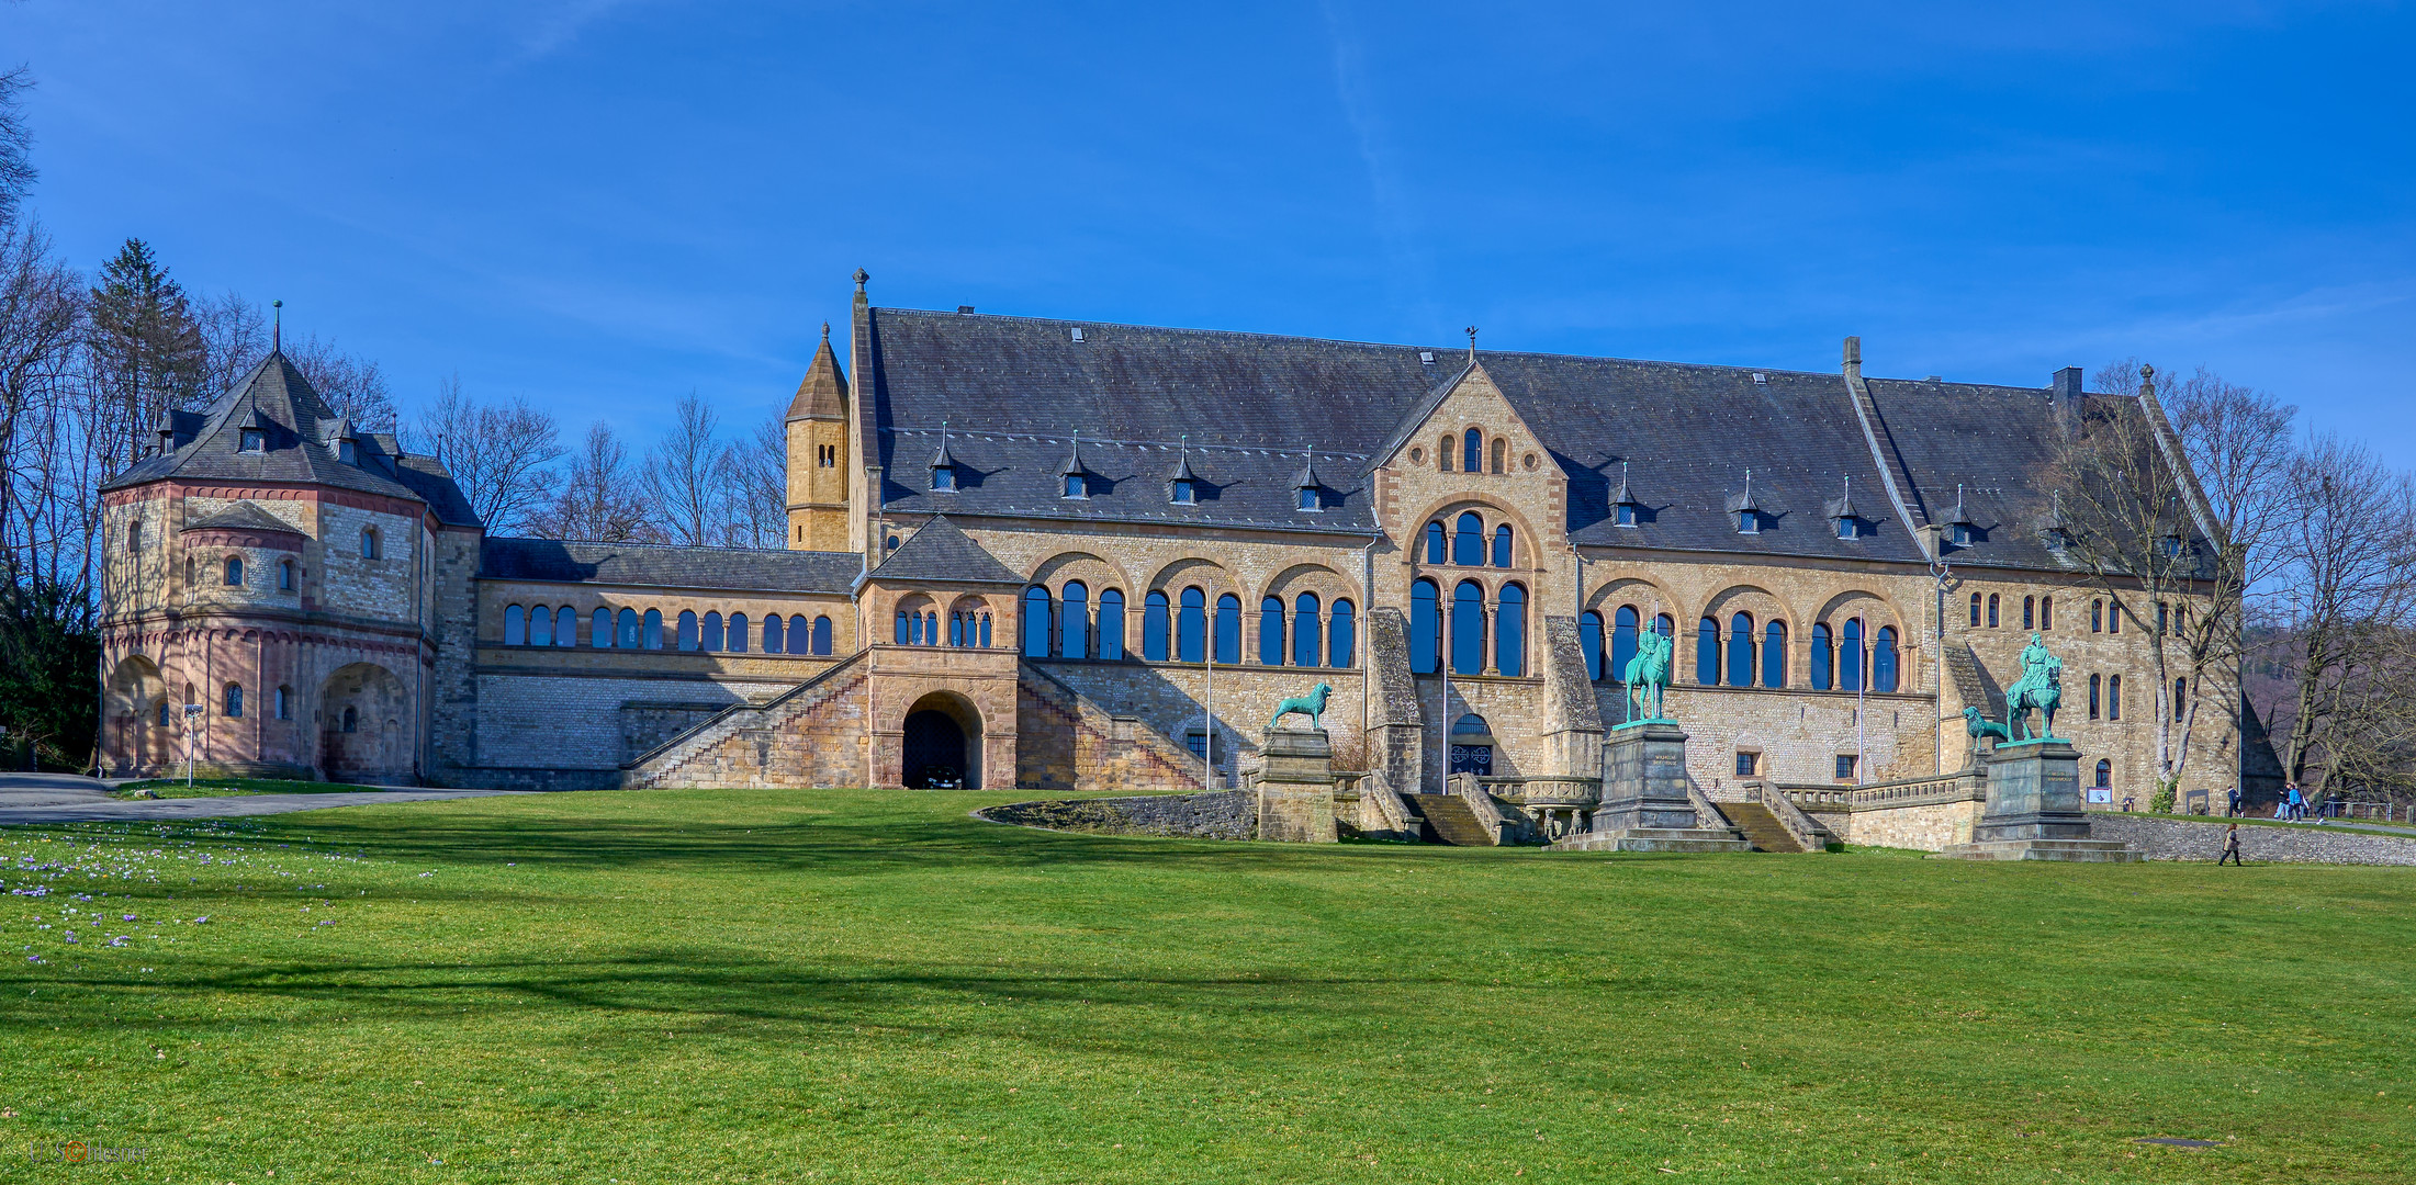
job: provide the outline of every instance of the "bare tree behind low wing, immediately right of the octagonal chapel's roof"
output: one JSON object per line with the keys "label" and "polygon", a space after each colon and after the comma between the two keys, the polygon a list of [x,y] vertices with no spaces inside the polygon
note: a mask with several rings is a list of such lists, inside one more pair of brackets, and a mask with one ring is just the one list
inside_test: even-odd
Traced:
{"label": "bare tree behind low wing, immediately right of the octagonal chapel's roof", "polygon": [[517,536],[532,526],[553,488],[553,459],[563,456],[553,418],[524,401],[476,403],[461,393],[461,376],[437,381],[437,398],[420,413],[403,442],[437,459],[488,533]]}

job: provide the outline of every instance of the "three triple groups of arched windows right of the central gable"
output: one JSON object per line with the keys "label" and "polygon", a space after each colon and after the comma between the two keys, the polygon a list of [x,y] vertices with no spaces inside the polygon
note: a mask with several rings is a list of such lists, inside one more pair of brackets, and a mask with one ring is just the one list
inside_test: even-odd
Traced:
{"label": "three triple groups of arched windows right of the central gable", "polygon": [[[1602,615],[1578,618],[1578,647],[1585,652],[1585,673],[1597,681],[1619,683],[1628,661],[1636,659],[1636,632],[1643,615],[1636,606],[1619,606],[1611,615],[1611,635],[1602,635]],[[1653,630],[1672,637],[1677,627],[1667,613],[1653,618]],[[1868,652],[1865,652],[1868,640]],[[1609,642],[1609,647],[1604,647]],[[1865,635],[1863,618],[1846,618],[1834,632],[1829,623],[1812,625],[1810,652],[1812,690],[1877,690],[1892,693],[1899,685],[1897,627],[1882,625]],[[1723,637],[1715,618],[1696,623],[1694,681],[1706,688],[1785,688],[1788,685],[1788,623],[1769,620],[1756,627],[1752,613],[1727,618]]]}

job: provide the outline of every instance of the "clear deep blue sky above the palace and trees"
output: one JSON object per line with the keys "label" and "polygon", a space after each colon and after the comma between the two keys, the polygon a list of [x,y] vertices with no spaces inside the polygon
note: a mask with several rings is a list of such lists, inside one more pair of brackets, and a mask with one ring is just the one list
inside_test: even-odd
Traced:
{"label": "clear deep blue sky above the palace and trees", "polygon": [[2397,5],[0,5],[34,210],[650,437],[879,304],[2044,384],[2416,463]]}

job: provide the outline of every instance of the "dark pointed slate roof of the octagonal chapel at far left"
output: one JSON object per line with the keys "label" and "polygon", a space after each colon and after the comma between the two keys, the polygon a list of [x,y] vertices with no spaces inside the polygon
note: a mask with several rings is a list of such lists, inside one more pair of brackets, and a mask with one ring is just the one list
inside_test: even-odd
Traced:
{"label": "dark pointed slate roof of the octagonal chapel at far left", "polygon": [[[478,526],[478,514],[445,466],[432,456],[403,456],[391,434],[360,434],[360,463],[341,461],[329,437],[338,425],[336,410],[283,352],[263,357],[205,413],[169,413],[164,420],[172,446],[135,461],[101,490],[164,478],[331,485],[425,502],[442,524]],[[259,425],[266,449],[242,451],[244,425]]]}

